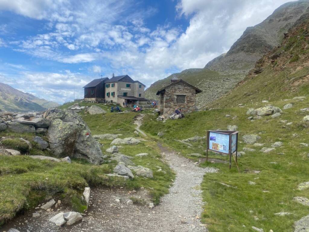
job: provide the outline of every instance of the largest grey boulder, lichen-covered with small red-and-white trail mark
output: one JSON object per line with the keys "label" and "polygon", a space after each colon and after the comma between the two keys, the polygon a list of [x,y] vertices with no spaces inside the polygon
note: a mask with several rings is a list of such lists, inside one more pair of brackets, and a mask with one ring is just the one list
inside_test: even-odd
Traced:
{"label": "largest grey boulder, lichen-covered with small red-and-white trail mark", "polygon": [[72,110],[52,109],[47,110],[44,117],[51,120],[47,137],[55,156],[102,163],[100,144],[91,136],[89,127],[78,114]]}

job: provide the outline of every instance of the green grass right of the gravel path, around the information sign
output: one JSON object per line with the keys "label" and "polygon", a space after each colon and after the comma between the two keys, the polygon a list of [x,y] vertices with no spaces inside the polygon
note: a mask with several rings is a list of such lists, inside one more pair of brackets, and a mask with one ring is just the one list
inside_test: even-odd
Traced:
{"label": "green grass right of the gravel path, around the information sign", "polygon": [[[202,190],[205,205],[202,222],[207,224],[209,231],[212,232],[253,231],[251,226],[263,228],[264,231],[270,229],[282,232],[291,231],[294,221],[308,214],[308,207],[294,202],[293,197],[309,198],[309,190],[296,190],[299,183],[309,181],[308,148],[299,144],[308,143],[309,140],[307,123],[301,122],[306,114],[299,111],[301,108],[308,107],[309,99],[270,101],[268,104],[281,109],[287,103],[293,103],[293,107],[284,110],[279,118],[263,116],[261,120],[254,122],[247,119],[248,107],[258,108],[264,104],[254,101],[252,105],[249,101],[251,104],[248,105],[248,100],[245,100],[242,100],[242,103],[247,104],[244,108],[234,106],[233,108],[193,112],[183,119],[167,120],[165,123],[157,122],[155,116],[147,115],[141,129],[154,137],[159,131],[165,133],[162,142],[182,155],[188,156],[190,153],[205,154],[205,141],[191,143],[192,148],[188,148],[174,139],[186,139],[195,135],[205,136],[207,130],[226,130],[228,125],[237,125],[240,131],[239,151],[243,147],[248,147],[256,149],[256,152],[246,152],[245,155],[239,157],[240,174],[234,161],[231,170],[228,169],[228,164],[210,162],[201,164],[202,167],[212,166],[220,170],[219,173],[204,176]],[[230,99],[226,98],[226,101]],[[231,117],[225,117],[226,114],[230,114]],[[233,120],[233,116],[237,118]],[[278,122],[281,119],[286,119],[293,124],[285,126]],[[271,147],[274,142],[281,141],[283,146],[266,154],[261,153],[260,148],[242,142],[242,135],[259,132],[263,133],[260,134],[261,139],[257,141],[258,143]],[[292,137],[294,133],[299,136]],[[278,153],[284,153],[284,155]],[[209,156],[228,160],[228,157],[214,153],[209,153]],[[277,164],[271,164],[271,162],[277,162]],[[253,170],[261,172],[255,174]],[[256,185],[249,185],[249,181],[256,182]],[[237,188],[225,187],[218,182]],[[269,191],[269,193],[263,191]],[[274,215],[279,212],[293,214],[285,217]],[[259,220],[255,220],[255,216]]]}

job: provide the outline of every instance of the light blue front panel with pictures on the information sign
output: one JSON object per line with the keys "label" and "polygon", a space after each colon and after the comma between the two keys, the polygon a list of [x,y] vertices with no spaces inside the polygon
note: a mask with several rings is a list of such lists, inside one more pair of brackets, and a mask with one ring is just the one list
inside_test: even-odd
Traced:
{"label": "light blue front panel with pictures on the information sign", "polygon": [[[209,149],[229,153],[229,135],[221,134],[217,132],[209,132]],[[236,143],[235,143],[236,144]]]}

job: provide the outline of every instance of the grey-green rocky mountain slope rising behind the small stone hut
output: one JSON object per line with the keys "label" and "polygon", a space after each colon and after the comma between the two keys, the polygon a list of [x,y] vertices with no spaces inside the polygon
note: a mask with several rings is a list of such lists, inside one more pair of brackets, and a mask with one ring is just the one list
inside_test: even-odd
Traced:
{"label": "grey-green rocky mountain slope rising behind the small stone hut", "polygon": [[260,24],[248,27],[226,54],[214,58],[204,68],[187,69],[156,81],[146,90],[145,96],[156,99],[157,90],[176,76],[203,90],[197,95],[198,106],[210,104],[235,88],[264,54],[280,45],[284,33],[305,14],[308,7],[309,0],[283,4]]}

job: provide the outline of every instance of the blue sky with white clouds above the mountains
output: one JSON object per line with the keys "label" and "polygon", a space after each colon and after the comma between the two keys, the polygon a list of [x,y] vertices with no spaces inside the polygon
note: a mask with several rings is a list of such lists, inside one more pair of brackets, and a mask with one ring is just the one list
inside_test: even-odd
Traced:
{"label": "blue sky with white clouds above the mountains", "polygon": [[202,68],[286,0],[0,0],[0,82],[49,101],[92,79]]}

